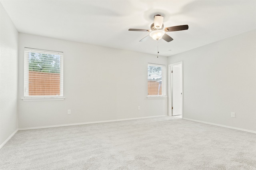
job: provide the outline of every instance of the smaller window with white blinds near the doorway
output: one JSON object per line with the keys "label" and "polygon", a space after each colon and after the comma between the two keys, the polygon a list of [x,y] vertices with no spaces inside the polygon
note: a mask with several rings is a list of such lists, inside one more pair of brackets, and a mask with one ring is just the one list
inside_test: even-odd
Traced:
{"label": "smaller window with white blinds near the doorway", "polygon": [[166,96],[165,65],[148,63],[148,97]]}

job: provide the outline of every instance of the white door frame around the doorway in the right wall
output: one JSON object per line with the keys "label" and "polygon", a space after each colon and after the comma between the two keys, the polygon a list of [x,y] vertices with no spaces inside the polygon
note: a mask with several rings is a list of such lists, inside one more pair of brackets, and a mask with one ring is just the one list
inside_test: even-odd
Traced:
{"label": "white door frame around the doorway in the right wall", "polygon": [[183,61],[168,65],[168,115],[172,116],[172,67],[181,64],[181,117],[183,118]]}

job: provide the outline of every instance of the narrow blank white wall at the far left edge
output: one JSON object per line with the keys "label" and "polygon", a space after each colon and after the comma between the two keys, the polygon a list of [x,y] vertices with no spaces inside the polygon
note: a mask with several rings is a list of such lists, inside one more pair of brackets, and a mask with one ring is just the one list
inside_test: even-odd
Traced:
{"label": "narrow blank white wall at the far left edge", "polygon": [[0,3],[0,146],[17,130],[18,32]]}

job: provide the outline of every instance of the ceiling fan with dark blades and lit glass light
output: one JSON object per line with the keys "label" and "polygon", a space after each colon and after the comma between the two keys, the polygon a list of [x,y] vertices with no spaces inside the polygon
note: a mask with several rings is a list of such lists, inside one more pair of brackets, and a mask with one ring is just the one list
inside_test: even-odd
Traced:
{"label": "ceiling fan with dark blades and lit glass light", "polygon": [[161,15],[154,16],[154,23],[151,24],[151,30],[147,29],[133,29],[130,28],[129,31],[146,31],[150,32],[150,34],[140,40],[140,42],[145,41],[149,36],[152,37],[154,40],[160,40],[161,38],[166,42],[170,42],[173,40],[170,36],[168,36],[165,32],[172,32],[172,31],[181,31],[181,30],[188,30],[188,25],[182,26],[172,26],[164,28],[164,17]]}

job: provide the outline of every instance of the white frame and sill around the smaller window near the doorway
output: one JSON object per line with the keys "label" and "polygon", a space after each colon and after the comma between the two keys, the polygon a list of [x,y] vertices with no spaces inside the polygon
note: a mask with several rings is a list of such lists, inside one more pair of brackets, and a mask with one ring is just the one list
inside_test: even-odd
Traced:
{"label": "white frame and sill around the smaller window near the doorway", "polygon": [[[154,66],[154,67],[161,67],[162,69],[164,69],[164,71],[162,72],[162,95],[147,95],[148,99],[164,99],[167,98],[167,92],[166,92],[166,65],[162,65],[162,64],[155,64],[155,63],[148,63],[148,66]],[[147,79],[148,82],[148,79]],[[147,83],[148,84],[148,83]],[[148,89],[147,89],[148,90]]]}

